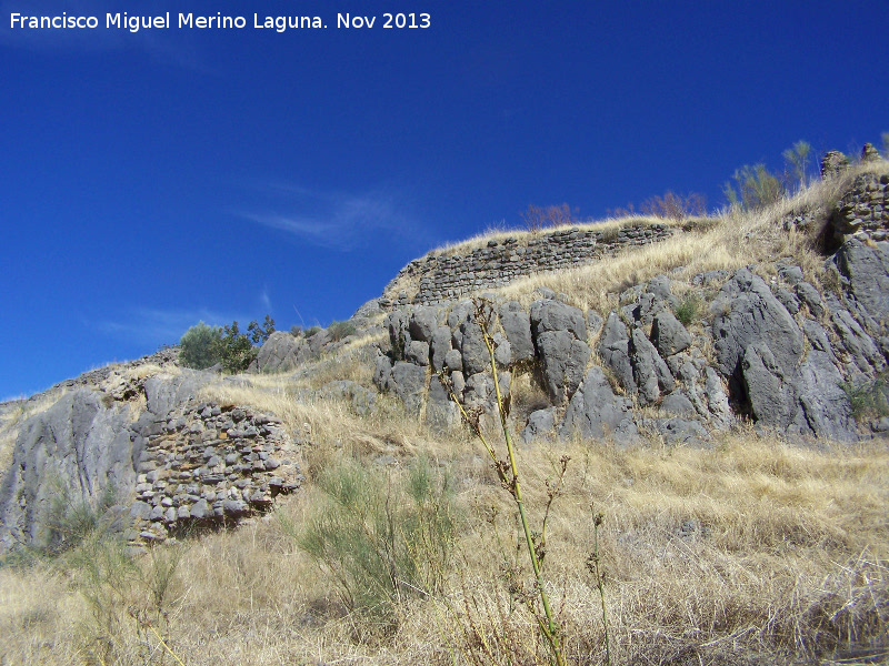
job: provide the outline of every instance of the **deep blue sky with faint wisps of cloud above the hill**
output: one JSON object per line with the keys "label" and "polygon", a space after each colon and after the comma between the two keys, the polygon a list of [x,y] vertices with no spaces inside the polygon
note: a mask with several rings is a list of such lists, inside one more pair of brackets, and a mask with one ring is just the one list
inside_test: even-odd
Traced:
{"label": "deep blue sky with faint wisps of cloud above the hill", "polygon": [[[244,7],[0,0],[0,400],[199,320],[347,319],[529,203],[599,218],[672,190],[716,208],[741,164],[889,131],[886,0]],[[62,12],[99,27],[11,27]],[[171,26],[106,28],[117,12]],[[384,29],[398,12],[430,27]]]}

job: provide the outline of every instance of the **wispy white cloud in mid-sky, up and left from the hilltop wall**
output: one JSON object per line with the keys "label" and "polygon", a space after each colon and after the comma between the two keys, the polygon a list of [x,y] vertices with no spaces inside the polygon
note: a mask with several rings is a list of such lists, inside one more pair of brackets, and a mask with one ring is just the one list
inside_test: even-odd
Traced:
{"label": "wispy white cloud in mid-sky, up and left from the hilltop wall", "polygon": [[404,244],[427,240],[424,225],[409,211],[409,196],[392,190],[344,193],[287,183],[264,183],[258,189],[276,200],[277,210],[240,210],[234,214],[314,245],[349,251],[379,234]]}

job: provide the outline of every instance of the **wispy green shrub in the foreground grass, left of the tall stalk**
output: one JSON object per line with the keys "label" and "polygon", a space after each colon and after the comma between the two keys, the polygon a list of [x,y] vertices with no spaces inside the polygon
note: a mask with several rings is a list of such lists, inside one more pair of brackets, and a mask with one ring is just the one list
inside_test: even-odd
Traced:
{"label": "wispy green shrub in the foreground grass, left of the tall stalk", "polygon": [[407,597],[441,589],[456,527],[447,476],[423,458],[393,474],[354,461],[321,474],[324,501],[296,535],[350,610],[390,626]]}

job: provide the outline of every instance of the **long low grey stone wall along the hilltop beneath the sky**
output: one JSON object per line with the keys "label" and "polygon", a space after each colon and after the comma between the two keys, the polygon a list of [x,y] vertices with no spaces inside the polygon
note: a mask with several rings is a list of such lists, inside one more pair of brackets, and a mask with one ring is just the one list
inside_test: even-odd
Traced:
{"label": "long low grey stone wall along the hilltop beneath the sky", "polygon": [[617,251],[662,241],[672,235],[666,224],[635,224],[622,229],[553,231],[540,236],[488,241],[466,254],[429,253],[401,269],[389,283],[380,305],[431,305],[485,289],[509,284],[517,278],[591,263]]}

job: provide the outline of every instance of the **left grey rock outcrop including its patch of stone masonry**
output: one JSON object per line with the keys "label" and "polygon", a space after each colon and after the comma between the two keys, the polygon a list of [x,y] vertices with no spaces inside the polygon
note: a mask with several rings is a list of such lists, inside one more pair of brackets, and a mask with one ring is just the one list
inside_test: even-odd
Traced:
{"label": "left grey rock outcrop including its patch of stone masonry", "polygon": [[129,393],[118,395],[111,383],[77,389],[24,422],[0,487],[0,551],[56,545],[60,514],[94,508],[109,495],[118,503],[116,528],[136,545],[186,527],[237,524],[298,487],[278,420],[197,402],[213,379],[183,370],[134,383],[148,407],[138,417],[134,403],[122,402]]}

